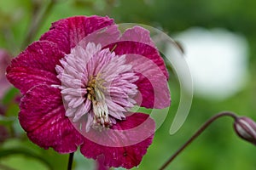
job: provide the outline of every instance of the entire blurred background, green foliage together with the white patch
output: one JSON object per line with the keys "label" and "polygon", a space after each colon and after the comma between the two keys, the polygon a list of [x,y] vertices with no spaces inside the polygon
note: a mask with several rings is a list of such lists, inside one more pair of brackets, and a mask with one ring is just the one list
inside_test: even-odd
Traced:
{"label": "entire blurred background, green foliage together with the white patch", "polygon": [[[154,142],[134,169],[158,169],[209,117],[234,111],[256,120],[256,2],[254,0],[9,0],[0,1],[0,169],[66,169],[68,155],[32,144],[17,120],[20,94],[5,81],[9,58],[38,40],[50,23],[73,15],[108,15],[116,23],[140,23],[166,32],[183,47],[195,94],[183,127],[169,134],[180,95],[169,67],[172,106]],[[39,21],[39,22],[38,22]],[[167,169],[255,170],[256,149],[237,138],[223,117]],[[74,169],[95,162],[75,154]],[[118,168],[122,169],[122,168]]]}

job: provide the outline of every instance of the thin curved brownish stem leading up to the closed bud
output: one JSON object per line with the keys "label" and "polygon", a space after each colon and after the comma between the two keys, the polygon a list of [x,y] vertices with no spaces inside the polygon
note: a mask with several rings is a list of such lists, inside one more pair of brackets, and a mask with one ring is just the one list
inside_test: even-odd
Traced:
{"label": "thin curved brownish stem leading up to the closed bud", "polygon": [[194,134],[193,136],[185,143],[183,144],[169,159],[168,161],[166,161],[166,163],[160,167],[160,170],[165,169],[189,144],[191,144],[207,127],[209,127],[209,125],[212,124],[212,122],[214,122],[215,120],[217,120],[219,117],[222,116],[231,116],[232,118],[234,118],[235,120],[238,118],[238,116],[236,116],[236,114],[232,113],[232,112],[221,112],[218,113],[215,116],[212,116],[210,119],[207,120],[207,122],[205,122]]}

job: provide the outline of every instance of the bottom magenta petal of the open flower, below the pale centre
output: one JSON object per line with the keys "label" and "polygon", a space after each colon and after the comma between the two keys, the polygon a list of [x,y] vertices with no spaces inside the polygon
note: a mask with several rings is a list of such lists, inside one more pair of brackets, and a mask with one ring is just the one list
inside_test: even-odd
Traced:
{"label": "bottom magenta petal of the open flower, below the pale centre", "polygon": [[[136,167],[152,143],[154,121],[146,114],[135,113],[127,116],[125,121],[117,122],[116,125],[113,125],[112,130],[114,130],[113,133],[108,133],[108,138],[111,139],[107,139],[107,135],[104,134],[101,136],[105,145],[85,139],[84,144],[81,145],[81,153],[85,157],[93,159],[104,156],[104,165],[108,167]],[[140,139],[141,136],[148,137]],[[138,143],[129,145],[131,141],[137,139]],[[108,140],[112,140],[112,146],[109,146]]]}

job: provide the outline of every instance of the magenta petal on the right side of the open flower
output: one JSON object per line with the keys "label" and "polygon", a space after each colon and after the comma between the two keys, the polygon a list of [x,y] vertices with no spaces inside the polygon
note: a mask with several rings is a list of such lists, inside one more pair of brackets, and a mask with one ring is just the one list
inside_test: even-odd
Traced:
{"label": "magenta petal on the right side of the open flower", "polygon": [[[146,108],[165,108],[171,97],[167,86],[168,72],[158,50],[142,42],[116,42],[109,46],[116,54],[126,54],[128,63],[133,66],[139,79],[136,84],[141,95],[141,106]],[[147,69],[146,69],[147,68]]]}

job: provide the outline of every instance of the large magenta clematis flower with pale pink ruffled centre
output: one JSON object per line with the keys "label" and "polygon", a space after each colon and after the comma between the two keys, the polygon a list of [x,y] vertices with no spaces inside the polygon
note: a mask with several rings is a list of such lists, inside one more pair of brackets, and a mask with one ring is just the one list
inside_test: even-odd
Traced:
{"label": "large magenta clematis flower with pale pink ruffled centre", "polygon": [[107,167],[137,166],[154,137],[154,120],[136,105],[170,105],[168,73],[149,31],[121,33],[112,19],[58,20],[7,68],[24,95],[19,120],[44,149],[87,158]]}

